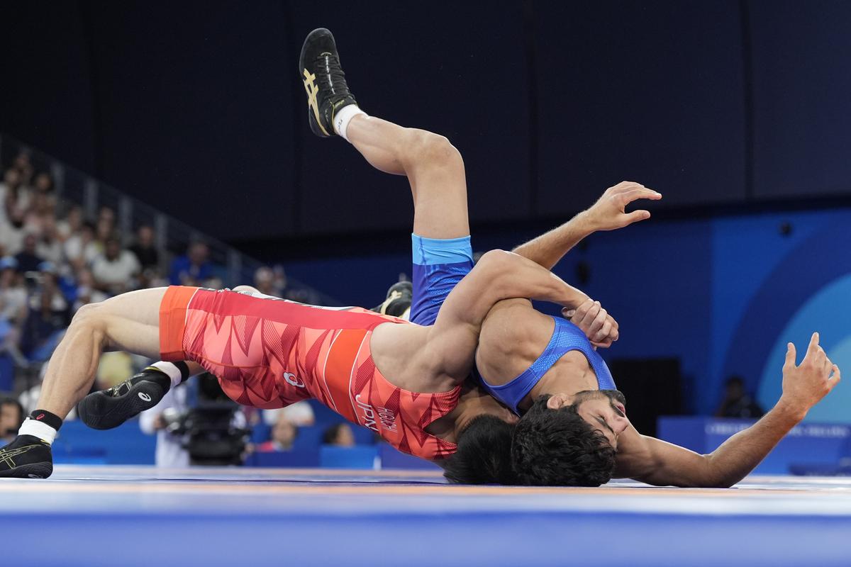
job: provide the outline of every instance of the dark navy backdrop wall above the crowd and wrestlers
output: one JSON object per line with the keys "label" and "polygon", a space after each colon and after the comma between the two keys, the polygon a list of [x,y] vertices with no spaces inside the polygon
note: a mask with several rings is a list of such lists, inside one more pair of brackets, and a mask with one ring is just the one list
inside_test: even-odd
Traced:
{"label": "dark navy backdrop wall above the crowd and wrestlers", "polygon": [[5,3],[0,130],[230,240],[406,230],[403,180],[306,126],[317,26],[366,111],[457,145],[477,225],[620,179],[664,207],[851,194],[830,0]]}

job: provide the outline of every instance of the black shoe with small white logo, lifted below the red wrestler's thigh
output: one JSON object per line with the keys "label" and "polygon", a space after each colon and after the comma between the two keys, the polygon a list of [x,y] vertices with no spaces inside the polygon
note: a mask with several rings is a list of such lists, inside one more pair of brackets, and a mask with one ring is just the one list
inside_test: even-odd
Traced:
{"label": "black shoe with small white logo, lifted below the red wrestler's thigh", "polygon": [[169,388],[171,378],[149,366],[117,386],[87,395],[77,404],[77,416],[93,429],[117,428],[157,405]]}

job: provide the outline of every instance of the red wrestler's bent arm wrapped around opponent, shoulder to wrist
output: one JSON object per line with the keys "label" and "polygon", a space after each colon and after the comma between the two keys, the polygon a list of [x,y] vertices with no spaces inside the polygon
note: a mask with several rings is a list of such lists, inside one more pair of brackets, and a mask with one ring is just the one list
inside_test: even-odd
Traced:
{"label": "red wrestler's bent arm wrapped around opponent, shoulder to wrist", "polygon": [[495,303],[509,298],[540,299],[575,308],[588,298],[548,269],[513,252],[485,253],[465,275],[437,314],[426,343],[432,370],[456,379],[469,374],[482,323]]}

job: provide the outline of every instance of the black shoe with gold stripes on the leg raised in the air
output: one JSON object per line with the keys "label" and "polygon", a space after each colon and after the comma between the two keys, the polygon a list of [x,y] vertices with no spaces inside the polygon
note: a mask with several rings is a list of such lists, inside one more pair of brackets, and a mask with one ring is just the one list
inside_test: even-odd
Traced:
{"label": "black shoe with gold stripes on the leg raised in the air", "polygon": [[301,80],[307,91],[307,120],[320,138],[334,136],[334,115],[341,108],[357,105],[346,85],[340,55],[331,32],[321,27],[307,35],[299,59]]}

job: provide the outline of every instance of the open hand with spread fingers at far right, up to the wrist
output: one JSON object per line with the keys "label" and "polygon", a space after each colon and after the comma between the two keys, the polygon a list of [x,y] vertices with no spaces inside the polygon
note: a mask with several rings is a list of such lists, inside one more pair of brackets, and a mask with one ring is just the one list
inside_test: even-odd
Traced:
{"label": "open hand with spread fingers at far right, up to the wrist", "polygon": [[780,402],[803,417],[839,383],[839,366],[833,364],[819,344],[814,332],[807,354],[800,366],[795,366],[795,345],[789,343],[783,365],[783,394]]}

